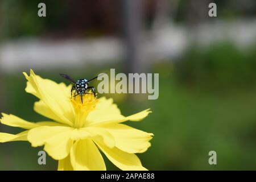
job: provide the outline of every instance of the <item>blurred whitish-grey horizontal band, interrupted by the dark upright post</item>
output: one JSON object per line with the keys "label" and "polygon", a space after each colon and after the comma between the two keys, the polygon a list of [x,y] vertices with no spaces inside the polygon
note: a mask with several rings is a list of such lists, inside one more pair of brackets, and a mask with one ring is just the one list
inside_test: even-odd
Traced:
{"label": "blurred whitish-grey horizontal band, interrupted by the dark upright post", "polygon": [[[146,61],[180,56],[189,41],[201,46],[231,40],[239,48],[255,44],[256,19],[232,22],[214,21],[194,27],[169,25],[146,32],[143,53]],[[43,40],[26,38],[0,43],[0,71],[11,72],[28,68],[79,67],[81,63],[101,64],[122,60],[125,50],[121,39]]]}

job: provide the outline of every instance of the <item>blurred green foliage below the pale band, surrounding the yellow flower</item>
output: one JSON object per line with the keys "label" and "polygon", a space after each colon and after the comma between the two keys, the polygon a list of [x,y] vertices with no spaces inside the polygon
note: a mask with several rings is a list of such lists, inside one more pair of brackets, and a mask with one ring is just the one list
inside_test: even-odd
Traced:
{"label": "blurred green foliage below the pale band, surrounding the yellow flower", "polygon": [[[138,154],[145,167],[151,170],[256,168],[254,48],[241,52],[230,43],[191,48],[181,60],[155,64],[149,71],[159,72],[158,100],[117,100],[124,115],[149,107],[153,111],[141,122],[127,122],[155,135],[148,151]],[[64,80],[59,72],[79,78],[109,68],[115,65],[90,67],[86,71],[81,67],[35,72],[60,82]],[[122,72],[118,69],[116,73],[119,71]],[[1,90],[1,111],[28,121],[45,119],[32,110],[36,98],[24,92],[26,82],[21,73],[2,75],[1,80],[5,85]],[[0,131],[18,133],[20,129],[0,125]],[[0,169],[56,169],[57,163],[49,156],[46,166],[38,165],[39,150],[42,148],[32,148],[27,142],[1,143]],[[217,152],[216,166],[208,164],[211,150]],[[106,164],[108,169],[117,169],[110,162]]]}

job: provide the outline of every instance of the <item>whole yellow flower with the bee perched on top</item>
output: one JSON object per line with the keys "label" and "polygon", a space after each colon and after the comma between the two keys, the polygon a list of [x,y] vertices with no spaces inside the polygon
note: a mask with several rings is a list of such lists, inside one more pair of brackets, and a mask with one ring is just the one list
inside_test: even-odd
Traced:
{"label": "whole yellow flower with the bee perched on top", "polygon": [[28,122],[15,115],[2,113],[4,125],[26,129],[19,134],[0,133],[0,142],[28,140],[32,147],[44,146],[53,159],[59,160],[59,170],[106,170],[101,150],[122,170],[146,170],[135,153],[150,147],[153,134],[122,124],[140,121],[149,109],[124,117],[112,99],[95,99],[85,94],[70,98],[71,85],[44,79],[31,70],[26,92],[39,98],[34,110],[53,121]]}

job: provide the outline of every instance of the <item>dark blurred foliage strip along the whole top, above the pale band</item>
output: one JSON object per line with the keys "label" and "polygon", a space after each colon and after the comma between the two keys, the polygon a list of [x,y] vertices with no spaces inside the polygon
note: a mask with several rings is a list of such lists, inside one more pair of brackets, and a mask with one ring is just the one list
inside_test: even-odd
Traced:
{"label": "dark blurred foliage strip along the whole top, above the pale band", "polygon": [[[47,5],[47,17],[38,18],[38,4]],[[210,1],[218,5],[218,16],[235,19],[255,16],[255,1]],[[166,16],[179,23],[208,19],[208,2],[198,0],[167,1]],[[165,6],[166,6],[165,5]],[[158,1],[144,1],[144,20],[150,28],[158,12]],[[161,5],[160,5],[161,6]],[[175,9],[174,9],[175,8]],[[160,13],[161,14],[161,13]],[[0,39],[23,36],[51,38],[122,34],[122,1],[84,0],[2,0],[0,1]],[[51,18],[49,18],[51,17]]]}

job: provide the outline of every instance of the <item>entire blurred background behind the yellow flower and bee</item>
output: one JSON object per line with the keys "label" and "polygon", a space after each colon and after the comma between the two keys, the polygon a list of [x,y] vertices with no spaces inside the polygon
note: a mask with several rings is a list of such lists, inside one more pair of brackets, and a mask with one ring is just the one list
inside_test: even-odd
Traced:
{"label": "entire blurred background behind the yellow flower and bee", "polygon": [[[0,2],[1,112],[28,121],[45,119],[33,111],[36,98],[24,92],[22,72],[30,68],[57,82],[64,81],[60,72],[74,78],[89,78],[110,68],[115,73],[159,73],[157,100],[147,100],[144,94],[105,95],[114,98],[123,115],[151,108],[143,121],[127,122],[155,135],[148,151],[138,155],[143,166],[150,170],[256,168],[254,1],[213,1],[217,18],[208,16],[208,1],[44,1],[45,18],[37,16],[39,2]],[[106,37],[110,42],[118,40],[123,48],[113,48],[109,56],[113,58],[106,60],[104,51],[97,52],[102,55],[97,59],[71,56],[68,63],[48,49],[43,53],[56,56],[56,63],[36,56],[36,51],[42,54],[40,41],[56,48],[70,42],[68,48],[73,49],[73,40],[101,45]],[[35,55],[29,57],[30,52]],[[34,62],[22,60],[24,55]],[[0,125],[0,132],[19,131]],[[0,143],[0,170],[55,170],[57,162],[49,156],[47,165],[38,164],[40,150],[28,142]],[[217,152],[217,165],[208,163],[212,150]],[[117,169],[105,161],[107,169]]]}

